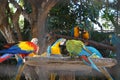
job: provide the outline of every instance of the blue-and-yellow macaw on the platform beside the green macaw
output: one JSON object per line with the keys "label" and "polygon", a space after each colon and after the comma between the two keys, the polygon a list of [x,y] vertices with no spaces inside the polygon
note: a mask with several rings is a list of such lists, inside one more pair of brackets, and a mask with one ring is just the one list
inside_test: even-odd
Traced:
{"label": "blue-and-yellow macaw on the platform beside the green macaw", "polygon": [[60,55],[61,56],[61,49],[60,49],[60,45],[64,44],[62,42],[65,42],[66,39],[64,38],[60,38],[58,39],[54,44],[52,44],[51,46],[48,46],[47,48],[47,56],[49,57],[50,55]]}

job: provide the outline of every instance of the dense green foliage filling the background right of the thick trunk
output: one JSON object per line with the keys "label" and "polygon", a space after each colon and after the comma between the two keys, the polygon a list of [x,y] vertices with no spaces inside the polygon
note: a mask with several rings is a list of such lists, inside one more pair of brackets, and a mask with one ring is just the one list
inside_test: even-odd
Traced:
{"label": "dense green foliage filling the background right of the thick trunk", "polygon": [[[115,24],[116,14],[115,10],[107,4],[109,3],[103,0],[71,0],[70,3],[66,1],[59,3],[49,13],[48,28],[50,31],[57,30],[58,33],[66,32],[65,34],[69,34],[75,25],[89,31],[93,30],[92,24],[98,24],[100,28],[110,28],[109,22]],[[100,16],[103,21],[106,20],[102,25],[98,21]]]}

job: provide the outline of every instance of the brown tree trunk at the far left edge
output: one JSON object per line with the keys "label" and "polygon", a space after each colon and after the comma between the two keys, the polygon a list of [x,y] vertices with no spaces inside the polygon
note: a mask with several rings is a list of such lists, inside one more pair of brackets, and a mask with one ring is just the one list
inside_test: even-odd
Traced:
{"label": "brown tree trunk at the far left edge", "polygon": [[0,0],[0,31],[2,35],[5,37],[6,41],[9,43],[13,43],[12,30],[8,23],[8,16],[6,15],[6,11],[8,9],[8,1]]}

